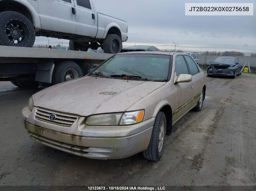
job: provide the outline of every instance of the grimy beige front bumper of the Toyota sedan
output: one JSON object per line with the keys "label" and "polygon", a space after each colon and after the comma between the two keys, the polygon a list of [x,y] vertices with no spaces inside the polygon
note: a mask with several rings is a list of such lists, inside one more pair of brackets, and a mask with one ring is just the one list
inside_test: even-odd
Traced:
{"label": "grimy beige front bumper of the Toyota sedan", "polygon": [[71,126],[35,118],[35,107],[22,110],[22,124],[30,138],[52,148],[92,159],[127,158],[147,149],[155,118],[131,126],[85,126],[79,117]]}

